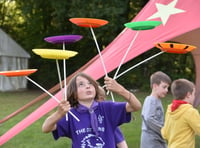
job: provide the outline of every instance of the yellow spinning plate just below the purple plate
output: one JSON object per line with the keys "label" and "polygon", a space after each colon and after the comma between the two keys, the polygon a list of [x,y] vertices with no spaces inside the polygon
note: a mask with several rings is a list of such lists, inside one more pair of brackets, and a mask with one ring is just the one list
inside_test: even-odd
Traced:
{"label": "yellow spinning plate just below the purple plate", "polygon": [[33,49],[32,51],[35,54],[40,55],[42,58],[57,60],[69,59],[78,54],[76,51],[61,49]]}

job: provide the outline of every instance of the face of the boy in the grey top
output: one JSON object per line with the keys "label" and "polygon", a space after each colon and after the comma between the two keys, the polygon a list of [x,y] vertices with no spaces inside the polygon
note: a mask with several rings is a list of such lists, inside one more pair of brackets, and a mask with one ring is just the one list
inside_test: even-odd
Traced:
{"label": "face of the boy in the grey top", "polygon": [[154,92],[157,98],[163,98],[168,93],[169,84],[165,82],[161,82],[158,84],[153,84],[154,86]]}

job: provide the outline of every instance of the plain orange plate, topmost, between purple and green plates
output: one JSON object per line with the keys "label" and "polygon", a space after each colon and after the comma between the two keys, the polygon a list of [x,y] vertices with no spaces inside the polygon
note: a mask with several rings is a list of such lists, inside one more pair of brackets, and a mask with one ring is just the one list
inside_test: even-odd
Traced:
{"label": "plain orange plate, topmost, between purple and green plates", "polygon": [[97,28],[106,25],[108,21],[94,18],[71,18],[69,19],[72,23],[80,27],[92,27]]}

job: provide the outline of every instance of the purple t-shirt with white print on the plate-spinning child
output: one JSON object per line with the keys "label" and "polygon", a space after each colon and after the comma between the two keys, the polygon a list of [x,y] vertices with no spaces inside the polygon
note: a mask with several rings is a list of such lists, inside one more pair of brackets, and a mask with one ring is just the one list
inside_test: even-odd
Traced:
{"label": "purple t-shirt with white print on the plate-spinning child", "polygon": [[96,136],[90,122],[90,113],[78,112],[71,109],[80,121],[78,122],[71,115],[63,117],[57,123],[57,129],[53,131],[53,136],[57,140],[59,137],[69,137],[72,139],[73,148],[115,148],[115,131],[122,123],[130,122],[131,113],[126,112],[125,102],[99,102],[95,109],[98,120],[98,133]]}

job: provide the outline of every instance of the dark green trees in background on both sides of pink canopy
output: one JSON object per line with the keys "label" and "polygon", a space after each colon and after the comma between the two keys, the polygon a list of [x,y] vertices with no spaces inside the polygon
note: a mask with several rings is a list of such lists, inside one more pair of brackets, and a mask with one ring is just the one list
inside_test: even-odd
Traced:
{"label": "dark green trees in background on both sides of pink canopy", "polygon": [[[54,60],[46,60],[32,52],[34,48],[62,49],[62,45],[50,44],[45,37],[78,34],[83,39],[66,45],[66,49],[79,54],[67,60],[67,75],[78,70],[98,54],[89,28],[78,27],[69,21],[74,17],[88,17],[108,20],[109,23],[94,29],[98,44],[103,50],[124,29],[124,23],[131,21],[144,7],[148,0],[2,0],[0,1],[0,25],[14,40],[31,54],[29,68],[38,72],[31,77],[42,86],[50,88],[58,83]],[[158,53],[151,49],[124,64],[120,72]],[[62,61],[59,61],[61,67]],[[61,68],[61,71],[63,68]],[[150,75],[161,70],[175,78],[194,80],[194,65],[190,54],[177,55],[164,53],[139,65],[118,79],[130,89],[149,89]],[[113,76],[115,71],[109,73]],[[61,72],[62,74],[62,72]],[[102,79],[99,80],[103,82]],[[33,87],[32,84],[29,84]]]}

